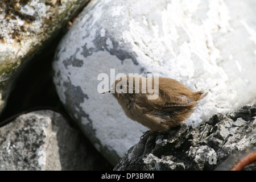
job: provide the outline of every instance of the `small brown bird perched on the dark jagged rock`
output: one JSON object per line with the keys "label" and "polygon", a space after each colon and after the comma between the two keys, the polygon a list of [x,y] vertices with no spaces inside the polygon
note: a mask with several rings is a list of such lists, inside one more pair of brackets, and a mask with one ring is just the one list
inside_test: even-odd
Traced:
{"label": "small brown bird perched on the dark jagged rock", "polygon": [[[147,88],[148,81],[152,83],[155,93]],[[158,85],[155,85],[156,81]],[[202,91],[192,92],[171,78],[158,77],[156,80],[154,77],[139,76],[121,77],[102,93],[112,93],[127,117],[151,131],[167,131],[170,127],[180,125],[195,110],[198,101],[207,95]],[[151,97],[154,94],[155,98]]]}

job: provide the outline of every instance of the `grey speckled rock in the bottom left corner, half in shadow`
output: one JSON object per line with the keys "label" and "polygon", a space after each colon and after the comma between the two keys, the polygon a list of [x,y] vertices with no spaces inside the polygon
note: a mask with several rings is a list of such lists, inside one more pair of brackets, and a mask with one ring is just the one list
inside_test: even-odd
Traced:
{"label": "grey speckled rock in the bottom left corner, half in shadow", "polygon": [[0,170],[97,169],[110,167],[59,113],[34,111],[0,128]]}

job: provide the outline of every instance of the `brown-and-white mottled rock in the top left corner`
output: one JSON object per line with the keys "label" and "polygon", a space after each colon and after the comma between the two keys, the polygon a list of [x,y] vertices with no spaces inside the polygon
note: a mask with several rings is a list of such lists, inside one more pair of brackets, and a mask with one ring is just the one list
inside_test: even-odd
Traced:
{"label": "brown-and-white mottled rock in the top left corner", "polygon": [[0,113],[18,73],[87,2],[0,1]]}

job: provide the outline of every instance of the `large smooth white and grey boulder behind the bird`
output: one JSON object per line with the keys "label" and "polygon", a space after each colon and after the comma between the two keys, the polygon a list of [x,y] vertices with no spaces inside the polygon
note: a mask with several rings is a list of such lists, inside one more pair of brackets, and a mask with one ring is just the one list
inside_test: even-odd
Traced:
{"label": "large smooth white and grey boulder behind the bird", "polygon": [[159,73],[208,90],[189,125],[253,103],[255,8],[249,0],[92,1],[56,52],[60,99],[112,164],[146,128],[127,118],[110,94],[98,93],[100,73],[109,84],[117,73]]}

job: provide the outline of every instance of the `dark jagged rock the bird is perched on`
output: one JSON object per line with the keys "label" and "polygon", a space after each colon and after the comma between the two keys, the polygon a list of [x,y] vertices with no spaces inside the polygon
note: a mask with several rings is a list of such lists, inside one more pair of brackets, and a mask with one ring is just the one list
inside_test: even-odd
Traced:
{"label": "dark jagged rock the bird is perched on", "polygon": [[150,135],[131,147],[114,170],[213,170],[250,147],[256,147],[256,104],[214,114],[199,127],[182,125]]}

